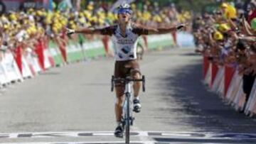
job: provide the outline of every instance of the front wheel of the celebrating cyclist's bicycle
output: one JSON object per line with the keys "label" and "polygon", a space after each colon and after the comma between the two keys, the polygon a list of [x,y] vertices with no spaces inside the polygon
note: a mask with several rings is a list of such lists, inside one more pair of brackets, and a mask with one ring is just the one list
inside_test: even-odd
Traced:
{"label": "front wheel of the celebrating cyclist's bicycle", "polygon": [[129,113],[130,113],[130,109],[129,109],[129,99],[130,99],[130,94],[127,93],[126,94],[126,99],[127,99],[127,109],[125,111],[125,143],[129,144],[129,127],[130,127],[130,118],[129,118]]}

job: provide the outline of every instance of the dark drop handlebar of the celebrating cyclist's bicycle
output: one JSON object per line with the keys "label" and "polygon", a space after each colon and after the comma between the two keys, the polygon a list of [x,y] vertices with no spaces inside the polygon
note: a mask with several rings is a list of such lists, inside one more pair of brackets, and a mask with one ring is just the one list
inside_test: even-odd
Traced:
{"label": "dark drop handlebar of the celebrating cyclist's bicycle", "polygon": [[127,84],[129,82],[142,82],[142,92],[145,92],[146,91],[146,88],[145,88],[145,76],[142,75],[142,79],[131,79],[130,77],[126,77],[126,78],[117,78],[117,77],[114,77],[112,75],[112,79],[111,79],[111,92],[114,91],[114,82],[121,82],[121,83],[124,83],[124,84]]}

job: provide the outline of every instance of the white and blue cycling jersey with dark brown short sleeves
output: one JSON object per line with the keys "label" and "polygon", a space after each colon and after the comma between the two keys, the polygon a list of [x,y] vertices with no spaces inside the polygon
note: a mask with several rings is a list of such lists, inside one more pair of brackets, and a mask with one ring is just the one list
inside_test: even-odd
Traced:
{"label": "white and blue cycling jersey with dark brown short sleeves", "polygon": [[102,28],[102,35],[111,35],[114,45],[114,59],[116,61],[137,59],[137,43],[140,35],[147,35],[145,28],[138,28],[129,24],[125,35],[122,35],[118,25]]}

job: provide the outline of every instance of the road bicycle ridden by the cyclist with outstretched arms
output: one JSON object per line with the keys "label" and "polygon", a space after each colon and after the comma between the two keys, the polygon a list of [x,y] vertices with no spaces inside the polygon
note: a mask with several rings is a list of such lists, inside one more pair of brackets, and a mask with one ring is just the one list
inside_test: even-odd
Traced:
{"label": "road bicycle ridden by the cyclist with outstretched arms", "polygon": [[121,82],[122,84],[125,84],[125,90],[124,90],[124,103],[122,105],[122,126],[125,130],[125,143],[129,144],[129,131],[130,126],[134,123],[134,117],[132,116],[132,82],[142,82],[142,91],[145,92],[145,76],[142,76],[142,79],[132,79],[131,77],[126,78],[116,78],[112,76],[111,79],[111,92],[114,91],[114,82]]}

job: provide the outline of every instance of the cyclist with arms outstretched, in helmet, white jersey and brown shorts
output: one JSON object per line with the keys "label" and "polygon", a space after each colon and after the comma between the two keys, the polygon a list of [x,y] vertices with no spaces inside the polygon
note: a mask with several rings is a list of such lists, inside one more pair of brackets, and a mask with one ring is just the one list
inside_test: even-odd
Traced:
{"label": "cyclist with arms outstretched, in helmet, white jersey and brown shorts", "polygon": [[[171,28],[145,28],[144,26],[137,26],[132,23],[132,9],[129,4],[122,4],[118,9],[118,22],[114,26],[108,26],[106,28],[82,28],[77,30],[70,30],[67,28],[67,34],[72,33],[85,33],[85,34],[100,34],[112,36],[112,41],[116,48],[114,53],[115,65],[114,65],[114,77],[125,78],[128,74],[131,74],[133,79],[140,79],[141,72],[139,70],[139,63],[137,62],[137,40],[140,35],[149,34],[164,34],[171,33],[183,28],[186,28],[184,24]],[[117,120],[117,128],[114,131],[116,137],[122,138],[122,102],[124,100],[124,84],[115,83],[116,103],[114,111]],[[139,101],[139,89],[141,87],[140,82],[134,82],[134,111],[139,113],[141,104]]]}

